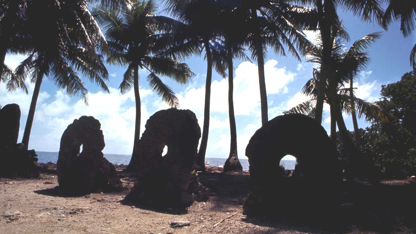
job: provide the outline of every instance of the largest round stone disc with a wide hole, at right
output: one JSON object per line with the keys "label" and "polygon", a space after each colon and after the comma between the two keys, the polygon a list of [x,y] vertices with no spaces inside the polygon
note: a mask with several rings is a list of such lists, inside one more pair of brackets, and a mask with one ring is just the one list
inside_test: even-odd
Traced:
{"label": "largest round stone disc with a wide hole, at right", "polygon": [[[342,169],[325,129],[300,114],[281,115],[258,129],[247,145],[250,195],[244,214],[295,218],[331,214],[339,207]],[[292,177],[277,172],[287,154],[297,158]]]}

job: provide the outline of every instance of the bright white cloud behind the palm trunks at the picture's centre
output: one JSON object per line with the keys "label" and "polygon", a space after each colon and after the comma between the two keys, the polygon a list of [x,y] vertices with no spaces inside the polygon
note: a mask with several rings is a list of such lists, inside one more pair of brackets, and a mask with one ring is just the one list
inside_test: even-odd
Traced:
{"label": "bright white cloud behind the palm trunks at the picture's centre", "polygon": [[[294,80],[295,74],[285,68],[277,68],[276,60],[265,63],[265,82],[267,95],[287,93],[287,84]],[[234,112],[235,115],[250,115],[260,112],[260,88],[258,68],[251,62],[242,62],[235,69]],[[205,102],[205,87],[191,88],[178,95],[181,108],[194,112],[203,112]],[[228,80],[214,80],[211,84],[210,98],[211,113],[228,113]]]}

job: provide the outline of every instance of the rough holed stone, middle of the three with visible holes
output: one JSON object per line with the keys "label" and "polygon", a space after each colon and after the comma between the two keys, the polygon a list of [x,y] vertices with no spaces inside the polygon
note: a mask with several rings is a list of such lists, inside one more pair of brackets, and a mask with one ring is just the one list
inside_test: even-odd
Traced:
{"label": "rough holed stone, middle of the three with visible holes", "polygon": [[[190,110],[171,108],[152,115],[139,140],[136,154],[138,180],[126,200],[144,204],[186,206],[206,196],[191,172],[201,129]],[[168,151],[162,157],[163,148]],[[191,182],[192,181],[192,182]]]}

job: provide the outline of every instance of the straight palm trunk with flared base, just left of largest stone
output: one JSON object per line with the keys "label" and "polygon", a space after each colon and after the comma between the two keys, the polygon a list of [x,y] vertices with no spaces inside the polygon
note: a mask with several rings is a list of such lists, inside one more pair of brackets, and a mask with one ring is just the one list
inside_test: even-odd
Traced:
{"label": "straight palm trunk with flared base, just left of largest stone", "polygon": [[232,47],[228,46],[228,116],[230,118],[230,154],[224,164],[224,172],[230,172],[235,170],[242,170],[240,160],[238,160],[237,154],[237,128],[235,126],[234,116],[234,101],[233,101],[233,51]]}

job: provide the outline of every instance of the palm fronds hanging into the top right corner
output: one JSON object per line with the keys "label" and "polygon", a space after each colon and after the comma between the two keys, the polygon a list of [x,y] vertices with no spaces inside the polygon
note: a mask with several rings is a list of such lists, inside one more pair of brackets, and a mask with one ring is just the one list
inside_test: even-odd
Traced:
{"label": "palm fronds hanging into the top right corner", "polygon": [[[388,6],[383,17],[383,27],[387,30],[394,20],[400,20],[400,30],[404,37],[409,37],[416,28],[416,1],[383,0]],[[416,44],[410,53],[410,65],[416,72]]]}

